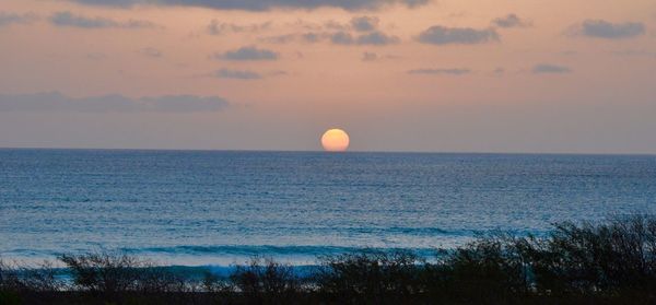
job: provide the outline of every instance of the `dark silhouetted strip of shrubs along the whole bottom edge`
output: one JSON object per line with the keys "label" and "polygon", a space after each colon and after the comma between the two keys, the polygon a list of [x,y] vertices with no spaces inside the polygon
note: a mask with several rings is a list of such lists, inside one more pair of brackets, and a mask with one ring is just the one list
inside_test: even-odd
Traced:
{"label": "dark silhouetted strip of shrubs along the whole bottom edge", "polygon": [[230,277],[180,277],[122,254],[68,268],[0,263],[0,304],[656,304],[656,219],[560,223],[544,237],[492,234],[425,260],[363,250],[308,274],[254,258]]}

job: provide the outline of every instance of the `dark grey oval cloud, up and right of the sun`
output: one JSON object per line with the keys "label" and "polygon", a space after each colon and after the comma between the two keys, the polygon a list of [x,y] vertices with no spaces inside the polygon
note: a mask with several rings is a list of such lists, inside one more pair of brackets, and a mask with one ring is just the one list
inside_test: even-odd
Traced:
{"label": "dark grey oval cloud, up and right of the sun", "polygon": [[432,45],[473,45],[499,40],[493,28],[431,26],[417,37],[420,43]]}

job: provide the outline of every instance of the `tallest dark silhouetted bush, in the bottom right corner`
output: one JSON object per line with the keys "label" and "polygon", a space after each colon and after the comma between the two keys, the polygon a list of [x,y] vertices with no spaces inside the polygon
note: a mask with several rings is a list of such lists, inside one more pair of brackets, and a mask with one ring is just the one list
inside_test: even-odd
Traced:
{"label": "tallest dark silhouetted bush, in the bottom right corner", "polygon": [[564,222],[555,224],[549,238],[532,238],[531,244],[526,254],[541,291],[617,295],[656,289],[654,218]]}

